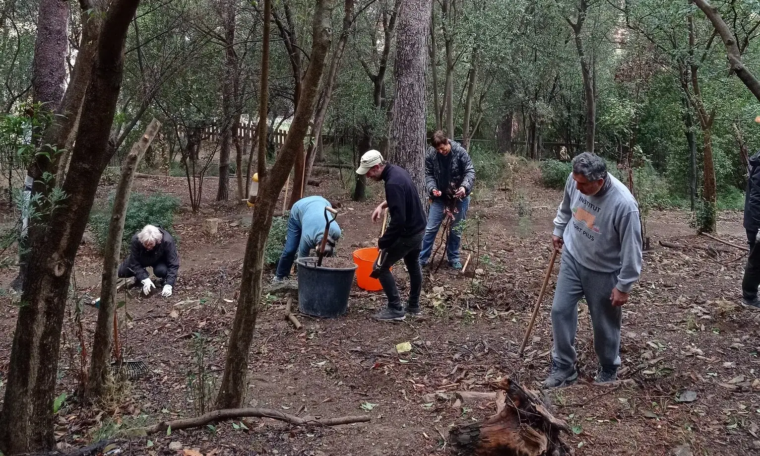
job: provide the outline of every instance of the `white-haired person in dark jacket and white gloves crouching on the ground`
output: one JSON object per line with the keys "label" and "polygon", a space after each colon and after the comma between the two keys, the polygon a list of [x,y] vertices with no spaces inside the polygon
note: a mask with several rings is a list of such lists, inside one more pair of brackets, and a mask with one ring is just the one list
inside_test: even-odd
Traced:
{"label": "white-haired person in dark jacket and white gloves crouching on the ground", "polygon": [[142,283],[143,293],[150,294],[156,285],[145,268],[153,268],[153,273],[163,282],[161,296],[172,296],[179,271],[179,252],[172,235],[160,226],[145,225],[132,236],[129,256],[119,264],[119,277],[136,277],[136,282]]}

